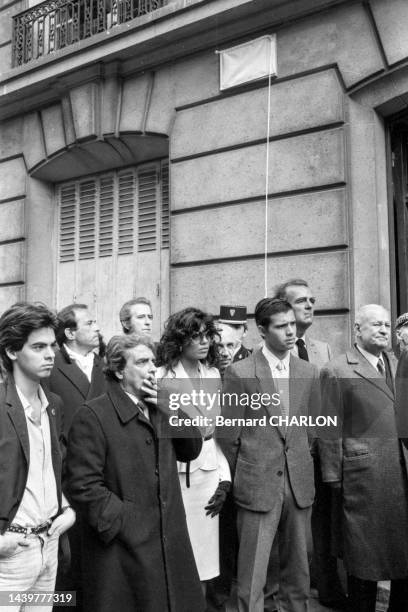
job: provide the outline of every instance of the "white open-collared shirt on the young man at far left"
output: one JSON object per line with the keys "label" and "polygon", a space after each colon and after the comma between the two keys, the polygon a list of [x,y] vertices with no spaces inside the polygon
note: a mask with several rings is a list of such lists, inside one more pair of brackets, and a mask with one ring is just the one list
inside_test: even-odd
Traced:
{"label": "white open-collared shirt on the young man at far left", "polygon": [[21,527],[38,527],[58,512],[57,483],[52,465],[50,422],[47,413],[48,400],[39,387],[41,412],[40,422],[37,423],[29,401],[18,387],[16,390],[24,408],[30,460],[23,498],[13,523]]}

